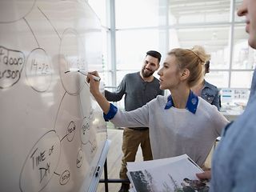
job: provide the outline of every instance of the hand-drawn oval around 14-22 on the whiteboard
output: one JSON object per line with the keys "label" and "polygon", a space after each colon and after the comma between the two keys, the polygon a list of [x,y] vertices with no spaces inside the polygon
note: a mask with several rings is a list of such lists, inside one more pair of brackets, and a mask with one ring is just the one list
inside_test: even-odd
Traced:
{"label": "hand-drawn oval around 14-22 on the whiteboard", "polygon": [[34,90],[44,92],[49,89],[53,72],[45,50],[36,48],[31,51],[26,59],[25,71],[26,80]]}

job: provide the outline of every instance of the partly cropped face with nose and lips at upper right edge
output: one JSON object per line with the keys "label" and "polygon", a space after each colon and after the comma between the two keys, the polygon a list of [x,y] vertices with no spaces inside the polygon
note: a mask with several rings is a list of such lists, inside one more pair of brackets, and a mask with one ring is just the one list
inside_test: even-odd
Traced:
{"label": "partly cropped face with nose and lips at upper right edge", "polygon": [[238,16],[246,16],[248,43],[256,49],[256,0],[243,0],[242,5],[238,7]]}

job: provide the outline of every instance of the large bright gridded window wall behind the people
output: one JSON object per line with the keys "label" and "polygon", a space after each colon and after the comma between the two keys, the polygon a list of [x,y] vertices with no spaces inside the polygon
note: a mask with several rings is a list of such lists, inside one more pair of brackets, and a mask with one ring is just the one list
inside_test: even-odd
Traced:
{"label": "large bright gridded window wall behind the people", "polygon": [[[106,7],[115,6],[114,30],[107,28],[110,26],[102,28],[102,76],[106,86],[118,85],[125,74],[141,70],[147,50],[160,51],[163,61],[174,47],[201,45],[211,54],[207,81],[218,88],[250,87],[256,51],[248,46],[245,18],[237,16],[236,10],[242,0],[88,2],[103,26],[107,26],[109,19],[106,18]],[[234,13],[234,19],[230,13]],[[115,37],[115,46],[110,46],[110,37]],[[110,54],[111,51],[115,54]]]}

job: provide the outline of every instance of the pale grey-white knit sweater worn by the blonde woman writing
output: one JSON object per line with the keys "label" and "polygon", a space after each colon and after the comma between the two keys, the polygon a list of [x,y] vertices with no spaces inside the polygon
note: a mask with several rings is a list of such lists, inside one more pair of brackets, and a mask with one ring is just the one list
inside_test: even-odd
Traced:
{"label": "pale grey-white knit sweater worn by the blonde woman writing", "polygon": [[174,106],[165,110],[166,102],[167,96],[158,96],[137,110],[118,110],[110,121],[116,126],[149,127],[154,159],[188,154],[202,166],[228,121],[202,98],[195,114]]}

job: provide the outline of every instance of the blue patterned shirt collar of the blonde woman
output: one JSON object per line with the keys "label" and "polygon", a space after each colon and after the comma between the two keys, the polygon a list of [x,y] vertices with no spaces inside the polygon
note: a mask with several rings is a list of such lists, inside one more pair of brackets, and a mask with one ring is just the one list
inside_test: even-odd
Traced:
{"label": "blue patterned shirt collar of the blonde woman", "polygon": [[[174,106],[174,102],[170,94],[165,106],[165,110],[170,109],[170,107],[172,106]],[[192,90],[190,90],[190,95],[186,102],[186,109],[189,110],[191,113],[195,114],[197,108],[198,108],[198,96],[195,95]]]}

